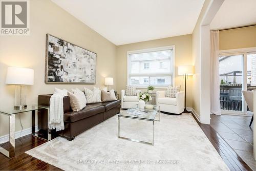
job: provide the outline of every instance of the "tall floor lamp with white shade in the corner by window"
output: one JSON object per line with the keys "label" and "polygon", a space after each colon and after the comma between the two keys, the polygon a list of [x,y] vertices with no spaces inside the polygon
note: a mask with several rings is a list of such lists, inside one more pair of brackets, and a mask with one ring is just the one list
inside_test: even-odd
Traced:
{"label": "tall floor lamp with white shade in the corner by window", "polygon": [[190,113],[186,110],[186,82],[189,75],[194,74],[194,66],[186,65],[186,66],[179,66],[178,67],[178,75],[183,75],[183,78],[185,78],[185,108],[183,113]]}

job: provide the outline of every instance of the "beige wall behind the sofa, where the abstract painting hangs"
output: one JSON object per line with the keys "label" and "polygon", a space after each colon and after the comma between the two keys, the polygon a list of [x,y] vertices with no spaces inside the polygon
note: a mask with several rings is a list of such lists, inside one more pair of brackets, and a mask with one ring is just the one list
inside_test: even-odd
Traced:
{"label": "beige wall behind the sofa, where the abstract painting hangs", "polygon": [[[86,84],[46,84],[45,39],[46,33],[63,38],[75,45],[97,53],[96,85]],[[28,86],[27,103],[37,103],[38,94],[53,93],[54,87],[70,90],[73,87],[102,87],[104,77],[114,77],[116,83],[116,46],[81,23],[50,0],[30,1],[30,35],[0,36],[0,108],[12,108],[14,86],[5,84],[8,66],[27,67],[35,71],[35,83]],[[116,88],[116,84],[112,86]],[[24,129],[31,127],[30,114],[22,114]],[[16,131],[20,130],[16,120]],[[0,136],[8,133],[8,120],[0,115]]]}

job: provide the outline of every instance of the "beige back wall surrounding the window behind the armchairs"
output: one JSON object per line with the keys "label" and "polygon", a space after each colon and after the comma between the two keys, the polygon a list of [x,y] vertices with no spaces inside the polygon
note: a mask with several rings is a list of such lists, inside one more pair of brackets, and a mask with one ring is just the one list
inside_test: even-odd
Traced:
{"label": "beige back wall surrounding the window behind the armchairs", "polygon": [[[117,62],[117,91],[125,89],[127,84],[127,51],[150,49],[163,46],[175,45],[175,84],[181,85],[181,90],[184,90],[184,79],[182,76],[178,76],[179,65],[191,65],[191,34],[162,38],[151,41],[137,42],[134,44],[117,46],[116,62]],[[187,82],[187,107],[192,106],[192,92],[191,92],[191,77]],[[146,89],[141,89],[146,91]]]}

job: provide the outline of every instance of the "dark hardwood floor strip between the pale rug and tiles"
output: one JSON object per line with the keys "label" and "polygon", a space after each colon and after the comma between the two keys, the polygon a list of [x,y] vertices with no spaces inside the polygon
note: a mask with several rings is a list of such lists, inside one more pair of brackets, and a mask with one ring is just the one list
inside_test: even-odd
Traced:
{"label": "dark hardwood floor strip between the pale rug and tiles", "polygon": [[239,157],[239,155],[237,155],[237,153],[228,145],[228,143],[215,131],[214,127],[198,122],[195,116],[194,118],[230,170],[252,170],[243,161],[243,159]]}

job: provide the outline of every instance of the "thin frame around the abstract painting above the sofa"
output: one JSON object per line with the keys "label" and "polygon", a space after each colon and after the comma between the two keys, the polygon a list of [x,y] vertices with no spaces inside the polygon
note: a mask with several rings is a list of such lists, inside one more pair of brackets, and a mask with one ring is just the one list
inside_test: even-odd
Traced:
{"label": "thin frame around the abstract painting above the sofa", "polygon": [[[70,44],[71,46],[74,46],[74,47],[77,47],[77,48],[81,48],[82,50],[88,52],[88,53],[92,53],[92,54],[95,54],[95,69],[94,69],[94,81],[84,81],[84,82],[77,82],[77,81],[49,81],[49,37],[52,36],[56,39],[59,39],[63,42],[66,42],[66,44]],[[97,69],[97,53],[95,52],[92,52],[90,50],[87,50],[85,48],[82,48],[80,46],[77,46],[75,44],[72,44],[71,42],[65,40],[65,39],[62,39],[62,38],[59,38],[59,37],[56,37],[52,34],[49,34],[47,33],[46,34],[46,58],[45,58],[45,83],[64,83],[64,84],[96,84],[96,76],[97,76],[97,72],[96,72],[96,69]]]}

